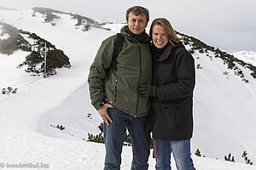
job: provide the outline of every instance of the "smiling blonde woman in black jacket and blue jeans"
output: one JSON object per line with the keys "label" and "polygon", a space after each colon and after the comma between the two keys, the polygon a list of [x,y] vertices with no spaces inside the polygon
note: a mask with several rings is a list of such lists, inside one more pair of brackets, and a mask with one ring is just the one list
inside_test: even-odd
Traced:
{"label": "smiling blonde woman in black jacket and blue jeans", "polygon": [[168,20],[159,18],[150,27],[153,46],[153,82],[138,88],[152,97],[152,121],[156,169],[171,169],[171,153],[178,170],[195,169],[190,157],[193,132],[194,58],[177,38]]}

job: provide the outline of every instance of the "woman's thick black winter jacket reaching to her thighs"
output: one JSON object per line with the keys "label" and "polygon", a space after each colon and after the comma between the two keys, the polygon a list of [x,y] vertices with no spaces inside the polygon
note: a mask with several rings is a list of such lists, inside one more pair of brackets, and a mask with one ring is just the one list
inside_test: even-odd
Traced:
{"label": "woman's thick black winter jacket reaching to her thighs", "polygon": [[158,98],[152,98],[149,118],[154,139],[190,139],[193,133],[193,90],[195,62],[182,42],[171,43],[157,57],[153,52],[153,85]]}

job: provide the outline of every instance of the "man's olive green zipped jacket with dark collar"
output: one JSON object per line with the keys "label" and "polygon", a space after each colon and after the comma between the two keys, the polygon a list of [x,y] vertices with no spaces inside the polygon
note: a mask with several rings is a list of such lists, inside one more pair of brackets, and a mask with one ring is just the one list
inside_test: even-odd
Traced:
{"label": "man's olive green zipped jacket with dark collar", "polygon": [[150,37],[147,35],[143,42],[137,42],[126,29],[124,26],[120,32],[124,41],[114,62],[116,70],[112,67],[116,35],[102,42],[90,66],[88,83],[91,104],[99,110],[104,101],[131,116],[146,116],[150,104],[148,98],[138,94],[137,88],[143,84],[151,84]]}

